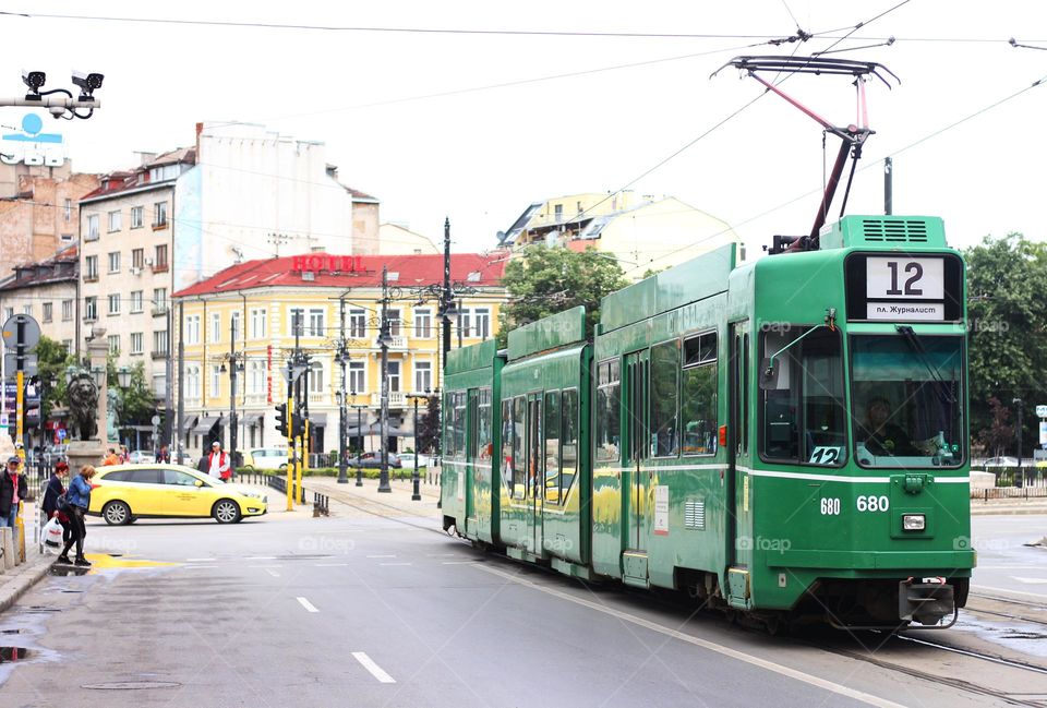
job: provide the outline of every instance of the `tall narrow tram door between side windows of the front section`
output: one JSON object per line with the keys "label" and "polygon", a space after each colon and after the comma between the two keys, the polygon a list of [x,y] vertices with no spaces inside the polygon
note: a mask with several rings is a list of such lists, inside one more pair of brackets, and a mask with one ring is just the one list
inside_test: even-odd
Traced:
{"label": "tall narrow tram door between side windows of the front section", "polygon": [[648,410],[650,409],[650,352],[637,351],[625,357],[625,392],[623,416],[626,428],[625,459],[628,471],[622,476],[623,492],[627,492],[625,554],[623,577],[634,584],[647,584],[647,517],[651,511],[650,470],[647,460]]}

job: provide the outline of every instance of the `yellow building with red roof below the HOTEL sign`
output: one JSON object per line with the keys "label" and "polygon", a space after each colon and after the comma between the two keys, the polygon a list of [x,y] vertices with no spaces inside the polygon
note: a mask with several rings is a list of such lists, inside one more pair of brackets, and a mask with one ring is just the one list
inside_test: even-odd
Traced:
{"label": "yellow building with red roof below the HOTEL sign", "polygon": [[[378,449],[381,406],[382,271],[387,272],[390,449],[411,446],[408,394],[440,385],[440,291],[443,255],[329,255],[309,253],[230,266],[176,292],[176,391],[181,413],[174,421],[180,444],[193,456],[213,440],[228,448],[236,362],[238,447],[286,444],[276,430],[275,406],[287,400],[281,369],[298,345],[311,359],[309,413],[314,453],[338,449],[345,340],[347,437]],[[453,346],[490,339],[505,301],[500,281],[504,254],[455,254],[452,283],[461,315]],[[420,404],[420,409],[424,404]],[[357,421],[363,431],[357,430]],[[359,433],[363,432],[363,435]],[[363,437],[363,440],[361,440]],[[404,439],[407,437],[405,441]]]}

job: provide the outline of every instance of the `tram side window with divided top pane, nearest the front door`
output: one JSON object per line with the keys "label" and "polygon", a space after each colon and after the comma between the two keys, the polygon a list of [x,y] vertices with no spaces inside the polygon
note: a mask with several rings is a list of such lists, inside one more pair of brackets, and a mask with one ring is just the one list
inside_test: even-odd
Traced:
{"label": "tram side window with divided top pane, nearest the front door", "polygon": [[684,341],[681,421],[684,455],[717,453],[717,333]]}

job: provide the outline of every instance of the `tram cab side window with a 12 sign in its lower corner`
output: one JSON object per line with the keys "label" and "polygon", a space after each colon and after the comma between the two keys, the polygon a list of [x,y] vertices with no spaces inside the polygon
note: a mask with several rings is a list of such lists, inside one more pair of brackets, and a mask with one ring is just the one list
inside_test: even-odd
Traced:
{"label": "tram cab side window with a 12 sign in its lower corner", "polygon": [[761,368],[777,355],[774,375],[760,386],[762,456],[839,467],[846,460],[840,333],[765,332],[762,348]]}

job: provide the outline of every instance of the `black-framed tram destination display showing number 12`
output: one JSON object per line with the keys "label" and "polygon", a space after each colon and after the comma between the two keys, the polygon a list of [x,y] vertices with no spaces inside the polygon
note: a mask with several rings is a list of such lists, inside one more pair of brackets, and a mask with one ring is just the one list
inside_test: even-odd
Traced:
{"label": "black-framed tram destination display showing number 12", "polygon": [[963,265],[949,254],[857,253],[845,268],[852,322],[955,322],[963,314]]}

